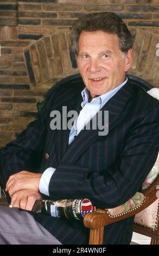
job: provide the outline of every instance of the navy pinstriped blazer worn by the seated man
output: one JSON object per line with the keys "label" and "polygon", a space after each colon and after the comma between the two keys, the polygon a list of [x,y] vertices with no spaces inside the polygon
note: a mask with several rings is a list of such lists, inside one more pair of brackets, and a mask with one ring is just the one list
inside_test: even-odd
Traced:
{"label": "navy pinstriped blazer worn by the seated man", "polygon": [[[54,167],[49,184],[53,200],[89,198],[97,208],[113,208],[141,191],[159,149],[158,101],[128,79],[102,108],[109,111],[108,135],[82,130],[68,146],[69,131],[51,130],[49,114],[62,111],[62,106],[79,111],[82,89],[83,82],[54,86],[39,118],[0,150],[3,187],[11,174],[21,170],[42,173]],[[34,217],[63,244],[88,243],[89,230],[82,222]],[[133,217],[105,227],[104,243],[130,243],[132,223]]]}

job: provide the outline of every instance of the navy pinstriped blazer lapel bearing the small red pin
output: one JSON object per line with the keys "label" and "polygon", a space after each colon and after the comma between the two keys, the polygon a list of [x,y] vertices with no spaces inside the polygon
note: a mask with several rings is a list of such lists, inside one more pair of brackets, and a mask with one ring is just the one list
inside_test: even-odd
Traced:
{"label": "navy pinstriped blazer lapel bearing the small red pin", "polygon": [[[129,102],[130,97],[134,94],[133,86],[130,80],[123,86],[100,110],[102,113],[103,124],[107,124],[107,120],[104,120],[104,111],[109,111],[109,132],[119,124],[125,117],[126,113],[124,108],[126,103]],[[92,121],[92,120],[91,120]],[[74,139],[74,141],[69,145],[67,151],[62,157],[61,162],[74,163],[78,158],[84,153],[84,151],[90,147],[90,145],[96,142],[101,136],[98,134],[97,130],[81,130],[79,135]],[[64,133],[63,133],[64,134]]]}

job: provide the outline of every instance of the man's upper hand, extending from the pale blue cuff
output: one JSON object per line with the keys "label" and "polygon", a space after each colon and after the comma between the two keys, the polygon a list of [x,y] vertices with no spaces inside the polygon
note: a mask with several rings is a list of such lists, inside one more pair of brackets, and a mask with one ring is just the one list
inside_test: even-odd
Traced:
{"label": "man's upper hand, extending from the pale blue cuff", "polygon": [[9,177],[5,191],[9,192],[10,197],[20,190],[35,190],[39,192],[39,182],[42,174],[31,173],[27,170],[13,174]]}

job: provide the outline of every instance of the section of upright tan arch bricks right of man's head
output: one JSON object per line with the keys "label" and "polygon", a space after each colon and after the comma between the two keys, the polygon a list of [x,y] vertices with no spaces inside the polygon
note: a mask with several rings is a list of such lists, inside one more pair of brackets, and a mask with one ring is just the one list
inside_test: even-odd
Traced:
{"label": "section of upright tan arch bricks right of man's head", "polygon": [[138,76],[158,87],[159,57],[156,54],[156,45],[159,42],[157,29],[133,28],[133,64],[129,74]]}

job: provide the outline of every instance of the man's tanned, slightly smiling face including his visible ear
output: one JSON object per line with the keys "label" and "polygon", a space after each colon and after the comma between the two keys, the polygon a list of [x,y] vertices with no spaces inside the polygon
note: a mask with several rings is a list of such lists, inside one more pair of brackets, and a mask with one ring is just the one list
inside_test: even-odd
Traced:
{"label": "man's tanned, slightly smiling face including his visible ear", "polygon": [[119,86],[131,64],[132,50],[122,53],[116,34],[103,31],[81,33],[78,67],[92,98]]}

